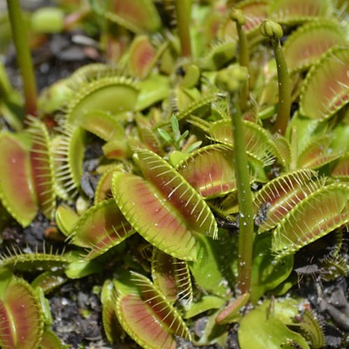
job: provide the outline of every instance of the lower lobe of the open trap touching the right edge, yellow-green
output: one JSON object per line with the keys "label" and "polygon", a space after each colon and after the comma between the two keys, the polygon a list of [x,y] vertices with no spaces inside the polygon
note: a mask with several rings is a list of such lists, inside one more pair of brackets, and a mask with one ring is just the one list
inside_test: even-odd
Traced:
{"label": "lower lobe of the open trap touching the right edge, yellow-green", "polygon": [[329,184],[304,198],[275,228],[272,251],[278,258],[349,223],[349,186]]}

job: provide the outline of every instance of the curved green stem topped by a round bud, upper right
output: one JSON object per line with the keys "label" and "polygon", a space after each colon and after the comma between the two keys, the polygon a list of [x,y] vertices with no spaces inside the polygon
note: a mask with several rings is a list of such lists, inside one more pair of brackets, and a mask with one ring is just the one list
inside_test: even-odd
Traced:
{"label": "curved green stem topped by a round bud, upper right", "polygon": [[279,82],[279,107],[275,121],[275,132],[285,135],[288,121],[290,120],[291,110],[291,82],[288,75],[288,68],[283,55],[280,38],[283,36],[283,30],[279,23],[274,20],[264,20],[260,25],[262,35],[272,40],[274,50],[276,69]]}

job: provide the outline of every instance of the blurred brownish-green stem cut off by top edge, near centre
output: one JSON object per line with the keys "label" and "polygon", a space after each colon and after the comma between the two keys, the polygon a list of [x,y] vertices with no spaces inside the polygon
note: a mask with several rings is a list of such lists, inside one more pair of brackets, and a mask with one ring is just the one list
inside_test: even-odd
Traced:
{"label": "blurred brownish-green stem cut off by top edge, near centre", "polygon": [[182,57],[191,57],[191,0],[175,0],[177,28]]}

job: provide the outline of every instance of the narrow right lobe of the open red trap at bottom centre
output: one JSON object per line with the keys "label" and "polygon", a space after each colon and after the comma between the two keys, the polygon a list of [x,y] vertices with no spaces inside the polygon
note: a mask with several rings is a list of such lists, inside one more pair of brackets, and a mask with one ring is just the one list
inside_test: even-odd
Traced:
{"label": "narrow right lobe of the open red trap at bottom centre", "polygon": [[184,320],[174,307],[156,290],[145,276],[132,272],[131,281],[140,289],[141,299],[149,306],[155,317],[170,334],[177,334],[184,339],[191,339],[191,334]]}

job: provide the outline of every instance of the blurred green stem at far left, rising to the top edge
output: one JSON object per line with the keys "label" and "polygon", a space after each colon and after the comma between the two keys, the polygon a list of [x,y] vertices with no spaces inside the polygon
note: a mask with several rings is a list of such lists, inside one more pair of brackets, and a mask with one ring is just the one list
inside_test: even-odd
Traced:
{"label": "blurred green stem at far left, rising to the top edge", "polygon": [[37,91],[31,54],[28,45],[27,32],[22,18],[19,0],[7,0],[8,15],[10,17],[13,42],[17,52],[17,64],[23,80],[24,111],[26,114],[36,115]]}

